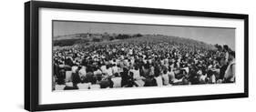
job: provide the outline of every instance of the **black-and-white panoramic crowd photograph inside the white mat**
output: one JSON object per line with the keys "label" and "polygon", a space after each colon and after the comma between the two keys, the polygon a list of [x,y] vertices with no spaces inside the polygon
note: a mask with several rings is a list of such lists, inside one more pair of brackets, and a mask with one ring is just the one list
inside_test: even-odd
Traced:
{"label": "black-and-white panoramic crowd photograph inside the white mat", "polygon": [[236,28],[52,21],[52,90],[236,83]]}

